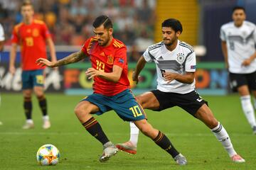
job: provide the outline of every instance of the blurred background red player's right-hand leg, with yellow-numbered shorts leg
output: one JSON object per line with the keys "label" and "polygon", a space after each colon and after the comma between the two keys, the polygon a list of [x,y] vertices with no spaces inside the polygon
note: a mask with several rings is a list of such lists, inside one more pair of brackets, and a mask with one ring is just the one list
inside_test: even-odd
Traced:
{"label": "blurred background red player's right-hand leg, with yellow-numbered shorts leg", "polygon": [[44,94],[44,76],[43,69],[38,69],[33,71],[33,91],[38,98],[38,105],[41,108],[43,115],[43,129],[50,128],[50,118],[48,115],[48,106],[46,95]]}

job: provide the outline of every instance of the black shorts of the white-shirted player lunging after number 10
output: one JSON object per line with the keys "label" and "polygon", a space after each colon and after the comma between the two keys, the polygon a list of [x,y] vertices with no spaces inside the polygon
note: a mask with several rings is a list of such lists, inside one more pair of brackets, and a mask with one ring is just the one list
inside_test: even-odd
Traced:
{"label": "black shorts of the white-shirted player lunging after number 10", "polygon": [[159,90],[151,92],[160,103],[159,109],[156,111],[163,111],[166,108],[178,106],[195,117],[196,112],[204,103],[208,105],[208,102],[204,101],[196,91],[191,91],[188,94],[168,93]]}

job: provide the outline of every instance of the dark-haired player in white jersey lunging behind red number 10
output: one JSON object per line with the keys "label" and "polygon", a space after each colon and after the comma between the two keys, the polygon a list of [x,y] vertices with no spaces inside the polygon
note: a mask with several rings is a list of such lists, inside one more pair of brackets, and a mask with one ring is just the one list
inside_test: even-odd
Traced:
{"label": "dark-haired player in white jersey lunging behind red number 10", "polygon": [[[181,23],[170,18],[161,25],[163,41],[149,46],[137,62],[132,79],[139,81],[139,73],[146,62],[155,62],[157,72],[157,89],[137,96],[143,108],[163,111],[179,106],[205,123],[228,152],[233,162],[245,162],[230,141],[228,132],[213,116],[207,101],[195,91],[196,55],[193,47],[178,40],[181,35]],[[117,144],[125,152],[136,154],[139,130],[133,123],[128,142]]]}

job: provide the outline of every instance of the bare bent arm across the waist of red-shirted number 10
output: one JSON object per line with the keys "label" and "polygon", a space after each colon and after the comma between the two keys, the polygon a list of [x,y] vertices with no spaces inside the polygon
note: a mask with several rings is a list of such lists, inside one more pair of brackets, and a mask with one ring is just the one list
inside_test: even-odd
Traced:
{"label": "bare bent arm across the waist of red-shirted number 10", "polygon": [[92,79],[93,77],[102,77],[103,79],[117,83],[122,74],[122,67],[114,65],[112,72],[102,72],[94,68],[89,68],[85,73],[89,79]]}

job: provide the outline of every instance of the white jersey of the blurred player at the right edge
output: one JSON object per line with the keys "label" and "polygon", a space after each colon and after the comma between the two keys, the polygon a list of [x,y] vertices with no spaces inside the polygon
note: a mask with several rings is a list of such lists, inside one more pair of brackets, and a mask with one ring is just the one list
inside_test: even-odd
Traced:
{"label": "white jersey of the blurred player at the right edge", "polygon": [[229,72],[248,74],[256,71],[256,60],[247,67],[242,62],[255,53],[255,24],[244,21],[236,27],[234,22],[226,23],[220,28],[220,39],[227,43]]}

